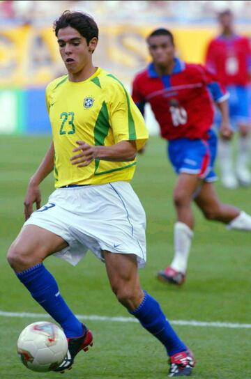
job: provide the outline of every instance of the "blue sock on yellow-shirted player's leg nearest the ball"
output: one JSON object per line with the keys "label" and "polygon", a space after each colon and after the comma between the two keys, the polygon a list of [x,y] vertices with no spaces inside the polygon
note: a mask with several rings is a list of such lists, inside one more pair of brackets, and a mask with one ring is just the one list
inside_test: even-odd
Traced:
{"label": "blue sock on yellow-shirted player's leg nearest the ball", "polygon": [[61,325],[66,337],[79,337],[83,325],[70,310],[59,293],[59,287],[52,274],[41,263],[22,272],[16,272],[22,284],[32,297]]}

